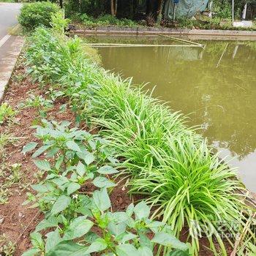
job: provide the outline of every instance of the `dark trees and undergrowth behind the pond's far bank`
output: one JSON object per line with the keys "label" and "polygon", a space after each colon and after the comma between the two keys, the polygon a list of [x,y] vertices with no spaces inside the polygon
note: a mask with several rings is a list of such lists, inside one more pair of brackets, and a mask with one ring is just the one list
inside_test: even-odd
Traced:
{"label": "dark trees and undergrowth behind the pond's far bank", "polygon": [[[211,12],[212,18],[207,15],[195,15],[196,19],[179,18],[163,19],[165,1],[163,0],[53,0],[60,7],[64,7],[67,18],[73,22],[83,23],[86,26],[167,26],[184,27],[189,29],[233,29],[231,26],[232,7],[231,0],[214,0]],[[247,19],[254,20],[256,14],[256,1],[235,1],[235,18],[241,20],[244,4],[248,3]],[[50,12],[49,12],[50,13]],[[31,17],[35,23],[43,15]],[[224,22],[221,22],[225,20]],[[22,20],[20,20],[22,22]],[[23,20],[23,23],[25,20]],[[29,20],[27,20],[29,22]],[[31,22],[31,21],[30,21]],[[239,28],[235,28],[239,29]],[[244,29],[244,28],[242,28]]]}

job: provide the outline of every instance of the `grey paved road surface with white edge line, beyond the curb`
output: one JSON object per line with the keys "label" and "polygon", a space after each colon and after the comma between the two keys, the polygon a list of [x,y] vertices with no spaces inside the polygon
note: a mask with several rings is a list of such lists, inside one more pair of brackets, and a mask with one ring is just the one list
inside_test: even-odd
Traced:
{"label": "grey paved road surface with white edge line, beyond the curb", "polygon": [[21,4],[0,3],[0,60],[4,58],[14,37],[8,36],[8,29],[18,23]]}

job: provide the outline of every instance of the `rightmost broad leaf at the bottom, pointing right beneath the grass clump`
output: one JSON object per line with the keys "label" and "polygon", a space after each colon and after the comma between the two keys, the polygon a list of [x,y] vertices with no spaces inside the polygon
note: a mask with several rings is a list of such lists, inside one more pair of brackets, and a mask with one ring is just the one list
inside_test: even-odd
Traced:
{"label": "rightmost broad leaf at the bottom, pointing right beneath the grass clump", "polygon": [[168,233],[164,233],[164,232],[157,233],[154,236],[154,238],[151,240],[151,242],[157,243],[157,244],[162,244],[164,246],[171,246],[175,249],[181,249],[181,250],[189,249],[187,244],[182,243],[175,236],[168,234]]}

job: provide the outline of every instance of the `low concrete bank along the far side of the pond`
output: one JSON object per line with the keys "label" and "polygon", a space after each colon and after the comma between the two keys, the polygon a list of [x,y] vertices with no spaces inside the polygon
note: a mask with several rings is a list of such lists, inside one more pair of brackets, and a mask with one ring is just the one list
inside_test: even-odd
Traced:
{"label": "low concrete bank along the far side of the pond", "polygon": [[172,28],[155,28],[155,27],[117,27],[117,26],[98,26],[88,28],[86,26],[70,26],[72,34],[118,34],[118,35],[154,35],[168,34],[179,36],[199,36],[208,37],[209,39],[225,37],[226,39],[238,37],[240,40],[256,40],[256,31],[238,31],[238,30],[207,30],[207,29],[172,29]]}

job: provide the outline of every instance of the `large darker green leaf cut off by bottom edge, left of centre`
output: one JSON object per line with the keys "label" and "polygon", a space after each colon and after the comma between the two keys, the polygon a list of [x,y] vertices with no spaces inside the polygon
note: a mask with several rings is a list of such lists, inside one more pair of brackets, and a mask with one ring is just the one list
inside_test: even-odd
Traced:
{"label": "large darker green leaf cut off by bottom edge, left of centre", "polygon": [[89,256],[86,254],[88,246],[75,244],[73,241],[63,241],[48,252],[46,256]]}

